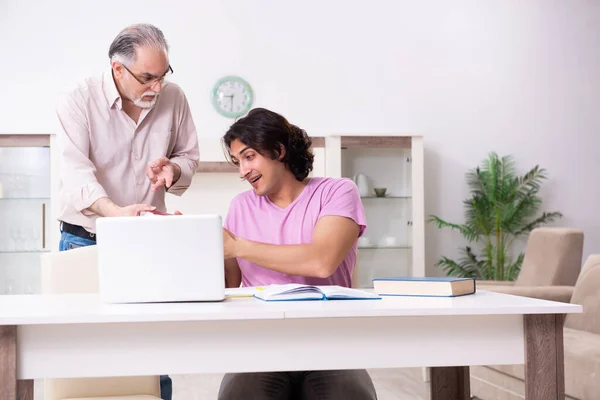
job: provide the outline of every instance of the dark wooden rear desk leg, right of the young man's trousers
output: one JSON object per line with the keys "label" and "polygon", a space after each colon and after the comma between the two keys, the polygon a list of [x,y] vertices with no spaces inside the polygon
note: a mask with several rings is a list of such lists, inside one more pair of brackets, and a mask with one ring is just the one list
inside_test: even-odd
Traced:
{"label": "dark wooden rear desk leg, right of the young man's trousers", "polygon": [[469,400],[469,367],[431,368],[431,400]]}

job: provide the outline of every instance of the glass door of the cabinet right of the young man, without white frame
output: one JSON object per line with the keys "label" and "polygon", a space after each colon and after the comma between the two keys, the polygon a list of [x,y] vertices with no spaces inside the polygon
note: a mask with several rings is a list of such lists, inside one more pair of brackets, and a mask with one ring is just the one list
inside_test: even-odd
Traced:
{"label": "glass door of the cabinet right of the young man, without white frame", "polygon": [[412,275],[411,149],[397,138],[352,139],[342,137],[342,176],[354,180],[365,210],[358,285],[372,287],[373,278]]}

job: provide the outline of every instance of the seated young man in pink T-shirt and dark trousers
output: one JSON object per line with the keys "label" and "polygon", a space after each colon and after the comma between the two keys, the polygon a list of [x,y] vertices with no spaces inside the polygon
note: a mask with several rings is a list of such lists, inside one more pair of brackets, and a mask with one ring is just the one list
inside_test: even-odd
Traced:
{"label": "seated young man in pink T-shirt and dark trousers", "polygon": [[[365,214],[350,179],[308,178],[311,141],[265,109],[250,111],[223,138],[252,190],[231,203],[225,220],[228,287],[281,283],[352,286]],[[375,399],[365,370],[227,374],[219,399]]]}

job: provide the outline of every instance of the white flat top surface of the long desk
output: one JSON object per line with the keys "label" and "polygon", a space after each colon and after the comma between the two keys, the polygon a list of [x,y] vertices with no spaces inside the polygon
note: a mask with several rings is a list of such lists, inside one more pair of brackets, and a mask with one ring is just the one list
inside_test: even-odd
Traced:
{"label": "white flat top surface of the long desk", "polygon": [[462,297],[384,297],[381,300],[106,304],[96,294],[0,296],[0,325],[284,318],[522,315],[580,313],[582,306],[478,291]]}

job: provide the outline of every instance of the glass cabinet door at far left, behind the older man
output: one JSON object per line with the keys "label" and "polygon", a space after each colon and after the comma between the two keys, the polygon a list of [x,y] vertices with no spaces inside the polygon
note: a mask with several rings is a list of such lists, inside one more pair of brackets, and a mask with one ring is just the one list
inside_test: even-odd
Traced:
{"label": "glass cabinet door at far left, behind the older man", "polygon": [[0,294],[39,293],[40,253],[50,251],[50,148],[2,143]]}

